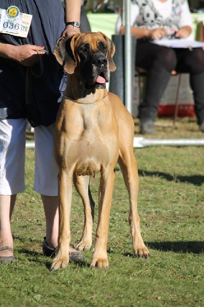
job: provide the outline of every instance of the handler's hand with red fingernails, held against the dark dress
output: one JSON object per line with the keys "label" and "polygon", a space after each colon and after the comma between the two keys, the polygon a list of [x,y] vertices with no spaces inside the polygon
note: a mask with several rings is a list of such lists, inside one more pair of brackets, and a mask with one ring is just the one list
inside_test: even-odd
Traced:
{"label": "handler's hand with red fingernails, held against the dark dress", "polygon": [[31,67],[39,61],[36,50],[38,50],[41,55],[44,55],[45,52],[42,51],[43,49],[44,46],[35,45],[13,46],[9,56],[11,59],[19,62],[20,64],[26,67]]}

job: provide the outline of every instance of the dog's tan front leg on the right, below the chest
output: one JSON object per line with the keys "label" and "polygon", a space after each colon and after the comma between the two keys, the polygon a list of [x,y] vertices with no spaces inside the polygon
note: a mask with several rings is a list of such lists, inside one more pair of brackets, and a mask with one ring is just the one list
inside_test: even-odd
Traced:
{"label": "dog's tan front leg on the right, below the chest", "polygon": [[108,268],[108,231],[113,194],[114,170],[101,171],[98,197],[98,224],[95,235],[95,247],[90,268]]}

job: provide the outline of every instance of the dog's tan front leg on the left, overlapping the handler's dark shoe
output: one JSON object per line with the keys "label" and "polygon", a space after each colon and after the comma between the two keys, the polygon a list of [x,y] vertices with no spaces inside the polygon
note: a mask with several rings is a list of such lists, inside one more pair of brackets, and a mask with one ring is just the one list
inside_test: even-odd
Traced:
{"label": "dog's tan front leg on the left, overlapping the handler's dark shoe", "polygon": [[70,212],[72,199],[72,174],[60,170],[58,175],[59,189],[59,237],[58,251],[53,260],[51,271],[64,269],[69,262]]}

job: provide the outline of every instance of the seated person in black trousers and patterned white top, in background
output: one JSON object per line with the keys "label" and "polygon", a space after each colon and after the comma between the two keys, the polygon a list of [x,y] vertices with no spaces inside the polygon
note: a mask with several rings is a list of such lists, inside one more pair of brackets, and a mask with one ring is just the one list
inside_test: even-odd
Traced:
{"label": "seated person in black trousers and patterned white top, in background", "polygon": [[[124,34],[121,15],[116,33]],[[194,110],[204,133],[204,52],[202,48],[168,48],[155,39],[192,39],[192,18],[187,0],[133,0],[131,32],[137,37],[136,67],[147,70],[146,93],[139,106],[140,133],[156,133],[154,122],[171,71],[190,74]]]}

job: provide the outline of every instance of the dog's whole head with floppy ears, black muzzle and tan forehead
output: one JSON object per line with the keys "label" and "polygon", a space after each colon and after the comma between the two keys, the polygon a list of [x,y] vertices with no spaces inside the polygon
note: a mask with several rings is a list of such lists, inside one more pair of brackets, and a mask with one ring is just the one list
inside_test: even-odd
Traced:
{"label": "dog's whole head with floppy ears, black muzzle and tan forehead", "polygon": [[86,32],[61,37],[54,48],[58,62],[68,74],[76,74],[86,89],[104,89],[109,71],[116,70],[113,62],[115,46],[101,32]]}

